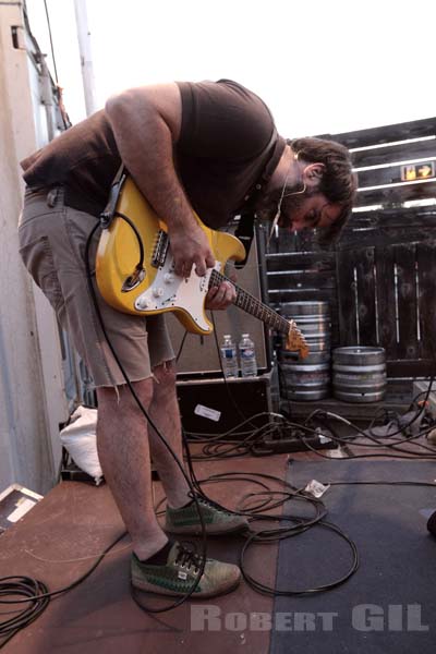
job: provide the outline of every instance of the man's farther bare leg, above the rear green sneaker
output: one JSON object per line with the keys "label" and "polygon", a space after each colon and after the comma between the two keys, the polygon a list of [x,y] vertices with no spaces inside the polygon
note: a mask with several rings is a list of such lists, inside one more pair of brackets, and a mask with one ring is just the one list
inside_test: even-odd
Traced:
{"label": "man's farther bare leg, above the rear green sneaker", "polygon": [[[160,434],[183,465],[183,445],[179,403],[175,393],[175,365],[168,361],[154,368],[154,395],[150,403],[150,416]],[[168,504],[178,509],[186,505],[192,497],[190,487],[173,457],[162,444],[156,432],[149,427],[149,446],[153,463],[159,473]]]}

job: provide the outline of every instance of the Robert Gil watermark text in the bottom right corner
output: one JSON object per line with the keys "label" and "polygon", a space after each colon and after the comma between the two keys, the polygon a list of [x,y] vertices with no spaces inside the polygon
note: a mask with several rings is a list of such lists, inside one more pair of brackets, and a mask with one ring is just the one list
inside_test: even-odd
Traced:
{"label": "Robert Gil watermark text in the bottom right corner", "polygon": [[[356,631],[429,631],[421,604],[358,604],[350,609]],[[339,627],[340,621],[340,627]],[[343,628],[335,611],[223,613],[215,604],[191,605],[192,631],[334,631]]]}

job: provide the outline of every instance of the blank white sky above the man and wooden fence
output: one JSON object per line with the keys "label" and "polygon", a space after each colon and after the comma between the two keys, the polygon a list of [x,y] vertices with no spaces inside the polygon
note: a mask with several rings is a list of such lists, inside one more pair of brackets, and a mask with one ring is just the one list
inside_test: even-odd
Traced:
{"label": "blank white sky above the man and wooden fence", "polygon": [[[49,52],[43,0],[31,27]],[[73,0],[47,0],[65,105],[85,118]],[[99,106],[113,92],[230,77],[284,136],[436,116],[436,0],[87,0]],[[49,63],[50,63],[49,58]]]}

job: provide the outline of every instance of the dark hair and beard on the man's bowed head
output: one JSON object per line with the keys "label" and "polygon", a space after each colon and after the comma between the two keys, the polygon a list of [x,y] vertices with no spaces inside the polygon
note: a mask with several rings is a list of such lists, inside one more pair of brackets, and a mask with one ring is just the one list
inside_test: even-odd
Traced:
{"label": "dark hair and beard on the man's bowed head", "polygon": [[287,143],[299,160],[325,166],[317,191],[329,202],[340,204],[342,210],[334,225],[323,230],[319,243],[335,242],[351,214],[358,189],[358,175],[352,170],[350,153],[340,143],[324,138],[295,138]]}

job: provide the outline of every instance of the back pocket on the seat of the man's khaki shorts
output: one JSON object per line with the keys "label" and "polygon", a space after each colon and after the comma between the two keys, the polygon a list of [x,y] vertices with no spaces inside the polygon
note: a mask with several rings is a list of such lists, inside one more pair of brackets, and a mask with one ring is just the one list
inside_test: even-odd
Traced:
{"label": "back pocket on the seat of the man's khaki shorts", "polygon": [[62,290],[48,238],[39,237],[23,245],[20,247],[20,255],[35,283],[41,289],[51,306],[58,311],[62,302]]}

